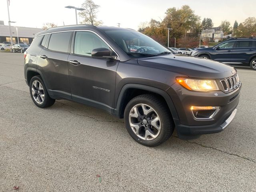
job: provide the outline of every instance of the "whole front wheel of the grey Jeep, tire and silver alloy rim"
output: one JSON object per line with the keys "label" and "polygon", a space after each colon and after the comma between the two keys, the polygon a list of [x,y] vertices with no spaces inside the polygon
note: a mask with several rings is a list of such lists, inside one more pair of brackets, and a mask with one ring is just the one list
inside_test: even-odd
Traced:
{"label": "whole front wheel of the grey Jeep, tire and silver alloy rim", "polygon": [[130,136],[149,147],[166,141],[174,130],[166,103],[153,94],[143,94],[130,100],[124,111],[124,122]]}

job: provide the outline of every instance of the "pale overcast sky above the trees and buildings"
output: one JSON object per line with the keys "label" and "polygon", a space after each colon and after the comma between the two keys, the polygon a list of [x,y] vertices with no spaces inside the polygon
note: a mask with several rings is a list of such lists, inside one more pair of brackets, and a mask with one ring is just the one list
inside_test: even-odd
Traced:
{"label": "pale overcast sky above the trees and buildings", "polygon": [[[64,8],[71,5],[80,7],[84,0],[10,0],[10,19],[13,26],[42,28],[43,23],[53,22],[58,26],[76,24],[75,10]],[[138,29],[140,22],[151,18],[164,18],[167,8],[189,5],[201,19],[211,18],[214,26],[222,20],[231,24],[255,17],[256,0],[94,0],[100,5],[98,20],[106,26]],[[0,20],[8,25],[6,0],[0,0]],[[79,20],[82,20],[78,17]]]}

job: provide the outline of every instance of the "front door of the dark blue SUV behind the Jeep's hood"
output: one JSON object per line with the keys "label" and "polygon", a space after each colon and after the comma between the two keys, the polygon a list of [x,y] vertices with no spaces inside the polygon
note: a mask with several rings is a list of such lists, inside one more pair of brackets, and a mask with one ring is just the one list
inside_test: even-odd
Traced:
{"label": "front door of the dark blue SUV behind the Jeep's hood", "polygon": [[212,60],[230,63],[235,42],[236,41],[228,41],[218,45],[218,48],[215,47],[213,49]]}

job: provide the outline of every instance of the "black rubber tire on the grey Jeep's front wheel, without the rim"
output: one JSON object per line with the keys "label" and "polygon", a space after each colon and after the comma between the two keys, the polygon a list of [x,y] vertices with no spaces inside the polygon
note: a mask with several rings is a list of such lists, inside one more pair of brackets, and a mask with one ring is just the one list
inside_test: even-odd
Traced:
{"label": "black rubber tire on the grey Jeep's front wheel, without the rim", "polygon": [[[154,138],[152,140],[144,140],[144,139],[140,138],[139,136],[136,135],[136,133],[132,130],[132,127],[130,126],[130,119],[129,119],[130,112],[132,112],[132,109],[135,106],[140,105],[140,104],[146,104],[146,105],[150,106],[150,108],[152,107],[152,109],[156,112],[156,115],[158,115],[158,117],[160,119],[159,134],[156,138]],[[145,146],[149,146],[149,147],[158,146],[158,145],[162,144],[163,142],[165,142],[168,138],[170,138],[170,136],[172,135],[172,132],[174,131],[174,122],[173,122],[172,116],[170,114],[170,111],[166,106],[167,106],[166,103],[164,101],[162,101],[160,98],[158,98],[157,96],[155,96],[154,94],[143,94],[143,95],[136,96],[135,98],[130,100],[130,102],[128,102],[128,104],[126,105],[126,108],[124,110],[124,122],[125,122],[126,129],[127,129],[128,133],[130,134],[130,136],[132,136],[132,138],[136,142],[138,142],[142,145],[145,145]],[[139,124],[139,125],[141,126],[141,124]],[[145,126],[144,126],[144,128],[143,128],[143,126],[140,127],[139,130],[144,131],[143,129],[146,129]],[[148,124],[148,129],[150,127],[151,126]],[[145,135],[146,134],[144,134],[144,136]]]}

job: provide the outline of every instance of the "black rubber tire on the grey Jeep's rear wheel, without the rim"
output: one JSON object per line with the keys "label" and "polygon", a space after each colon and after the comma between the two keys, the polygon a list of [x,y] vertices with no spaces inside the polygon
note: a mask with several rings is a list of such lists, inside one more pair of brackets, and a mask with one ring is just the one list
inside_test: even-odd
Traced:
{"label": "black rubber tire on the grey Jeep's rear wheel, without the rim", "polygon": [[[41,104],[37,103],[36,100],[34,99],[34,96],[32,94],[32,84],[34,81],[38,81],[40,82],[40,84],[42,85],[43,87],[43,91],[44,91],[44,100]],[[29,90],[30,90],[30,96],[32,98],[32,101],[34,102],[34,104],[40,108],[46,108],[46,107],[50,107],[54,104],[55,102],[55,99],[52,99],[50,98],[49,94],[48,94],[48,91],[46,89],[46,86],[44,85],[44,82],[41,78],[41,76],[34,76],[32,77],[32,79],[30,80],[30,83],[29,83]]]}

